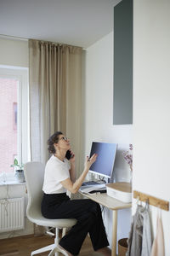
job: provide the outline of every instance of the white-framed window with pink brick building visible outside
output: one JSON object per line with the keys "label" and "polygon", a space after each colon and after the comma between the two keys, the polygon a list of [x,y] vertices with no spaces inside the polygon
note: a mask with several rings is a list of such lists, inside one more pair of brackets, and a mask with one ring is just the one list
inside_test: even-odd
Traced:
{"label": "white-framed window with pink brick building visible outside", "polygon": [[28,69],[0,66],[0,173],[30,160],[28,109]]}

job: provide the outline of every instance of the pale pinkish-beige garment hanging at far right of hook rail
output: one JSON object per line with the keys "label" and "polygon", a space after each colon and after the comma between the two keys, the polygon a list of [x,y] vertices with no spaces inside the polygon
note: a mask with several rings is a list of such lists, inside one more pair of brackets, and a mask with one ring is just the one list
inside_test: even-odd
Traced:
{"label": "pale pinkish-beige garment hanging at far right of hook rail", "polygon": [[153,242],[150,256],[164,256],[164,236],[163,236],[163,226],[161,222],[161,209],[157,212],[157,225],[156,225],[156,237]]}

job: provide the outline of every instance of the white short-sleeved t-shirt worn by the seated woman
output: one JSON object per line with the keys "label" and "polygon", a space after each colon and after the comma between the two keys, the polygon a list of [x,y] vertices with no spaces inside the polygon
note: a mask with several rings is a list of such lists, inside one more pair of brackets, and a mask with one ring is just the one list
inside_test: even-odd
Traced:
{"label": "white short-sleeved t-shirt worn by the seated woman", "polygon": [[45,166],[43,192],[45,194],[65,193],[66,189],[60,182],[70,177],[70,168],[68,160],[65,159],[63,162],[52,155]]}

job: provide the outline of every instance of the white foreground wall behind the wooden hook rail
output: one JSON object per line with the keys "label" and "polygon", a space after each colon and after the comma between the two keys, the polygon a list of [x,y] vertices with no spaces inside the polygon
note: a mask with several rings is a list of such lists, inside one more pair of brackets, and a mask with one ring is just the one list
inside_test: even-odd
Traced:
{"label": "white foreground wall behind the wooden hook rail", "polygon": [[[136,0],[133,15],[133,189],[169,201],[170,2]],[[168,256],[169,212],[162,220]]]}

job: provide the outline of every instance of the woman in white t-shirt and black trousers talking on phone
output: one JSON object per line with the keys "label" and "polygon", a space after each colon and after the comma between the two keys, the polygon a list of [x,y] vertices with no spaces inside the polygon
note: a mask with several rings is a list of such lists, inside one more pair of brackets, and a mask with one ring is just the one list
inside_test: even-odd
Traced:
{"label": "woman in white t-shirt and black trousers talking on phone", "polygon": [[94,250],[111,256],[99,204],[91,200],[70,200],[66,195],[66,190],[77,193],[97,154],[90,159],[87,156],[84,170],[76,180],[75,155],[71,152],[70,161],[65,159],[65,154],[70,149],[70,141],[62,132],[57,131],[49,137],[48,150],[53,155],[45,167],[42,215],[45,218],[77,219],[77,224],[59,241],[59,246],[64,248],[69,256],[78,255],[88,233]]}

